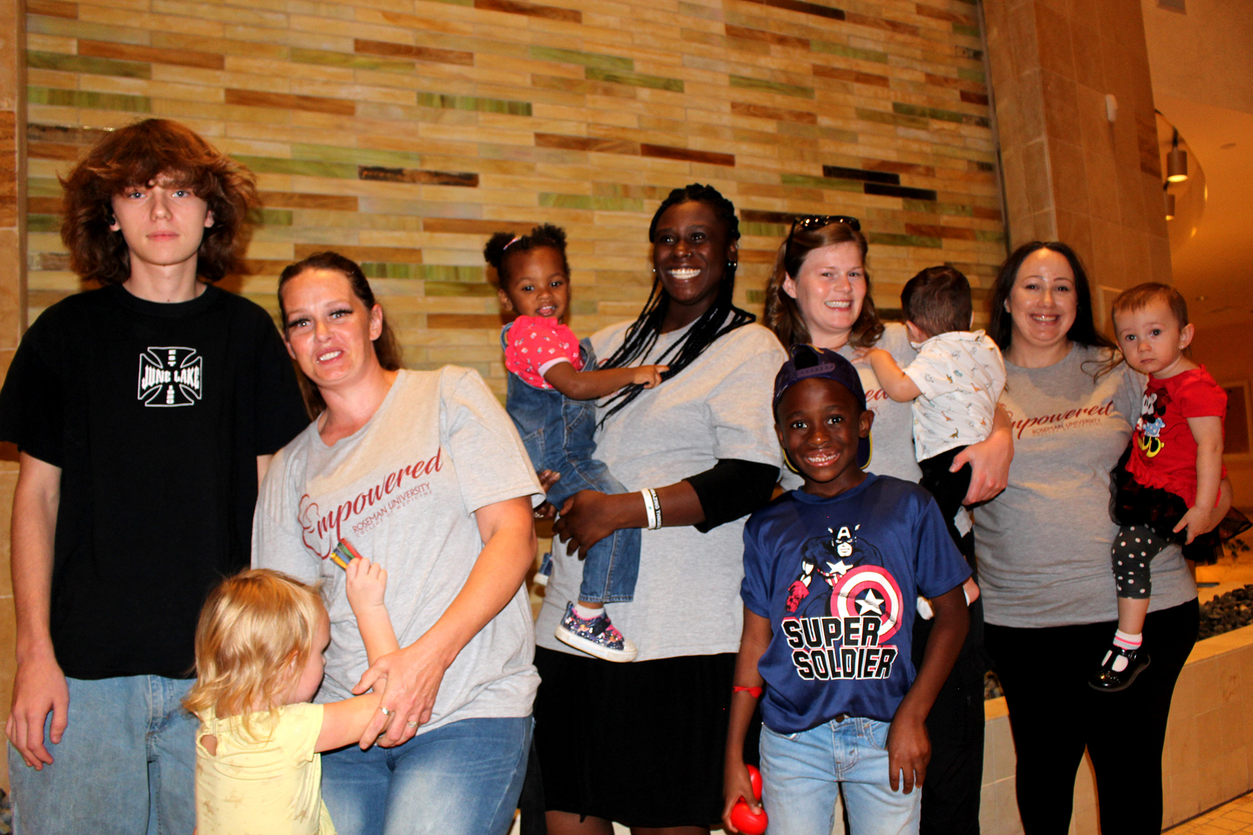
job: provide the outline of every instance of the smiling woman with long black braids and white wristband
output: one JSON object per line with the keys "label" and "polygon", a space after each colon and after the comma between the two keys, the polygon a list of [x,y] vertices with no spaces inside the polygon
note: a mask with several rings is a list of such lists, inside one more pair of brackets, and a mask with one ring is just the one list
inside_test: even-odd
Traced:
{"label": "smiling woman with long black braids and white wristband", "polygon": [[[603,402],[596,457],[629,492],[581,491],[555,525],[565,548],[536,626],[536,749],[551,835],[610,835],[610,821],[707,832],[722,812],[725,707],[739,645],[743,517],[778,477],[769,414],[784,354],[732,303],[736,208],[713,187],[674,189],[649,227],[653,292],[639,318],[591,337],[605,367],[669,366],[662,383]],[[635,598],[614,621],[632,663],[553,637],[578,593],[579,556],[642,531]]]}

